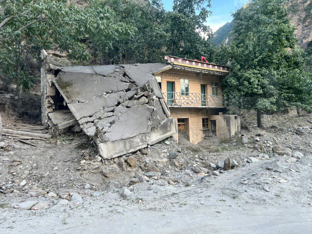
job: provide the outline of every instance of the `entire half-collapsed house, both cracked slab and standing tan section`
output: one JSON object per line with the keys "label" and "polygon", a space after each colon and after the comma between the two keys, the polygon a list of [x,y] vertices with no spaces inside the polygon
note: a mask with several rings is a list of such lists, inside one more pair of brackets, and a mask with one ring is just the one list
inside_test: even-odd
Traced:
{"label": "entire half-collapsed house, both cracked slab and standing tan section", "polygon": [[164,64],[64,67],[41,56],[42,123],[82,129],[103,158],[178,140],[178,129],[194,144],[206,129],[218,137],[240,129],[239,116],[222,115],[228,67],[171,56]]}

